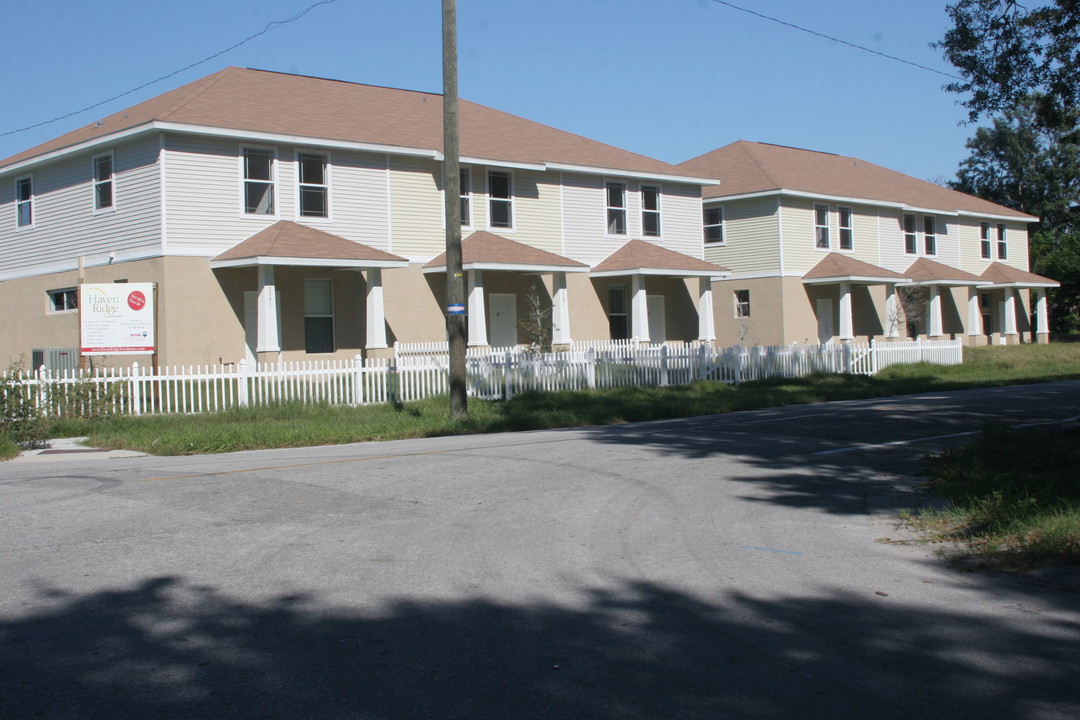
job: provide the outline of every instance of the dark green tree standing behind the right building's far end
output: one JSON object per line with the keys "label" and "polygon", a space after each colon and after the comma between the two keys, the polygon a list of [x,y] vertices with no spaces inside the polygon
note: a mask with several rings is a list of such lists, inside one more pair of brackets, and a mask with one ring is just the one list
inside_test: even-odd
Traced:
{"label": "dark green tree standing behind the right building's far end", "polygon": [[1065,122],[1040,122],[1042,97],[1016,106],[980,127],[968,140],[971,154],[960,163],[950,187],[1040,218],[1031,232],[1035,272],[1062,287],[1050,294],[1052,329],[1080,331],[1080,145],[1066,130],[1076,126],[1076,109]]}

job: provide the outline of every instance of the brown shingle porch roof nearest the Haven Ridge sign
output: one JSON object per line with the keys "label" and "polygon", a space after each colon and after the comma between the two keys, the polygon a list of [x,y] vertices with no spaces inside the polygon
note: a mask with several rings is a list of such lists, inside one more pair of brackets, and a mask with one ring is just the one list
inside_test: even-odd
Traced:
{"label": "brown shingle porch roof nearest the Haven Ridge sign", "polygon": [[280,220],[260,230],[218,255],[214,262],[235,264],[238,260],[256,258],[288,258],[297,260],[298,264],[303,264],[303,260],[340,260],[352,266],[362,262],[381,267],[408,264],[403,257],[289,220]]}

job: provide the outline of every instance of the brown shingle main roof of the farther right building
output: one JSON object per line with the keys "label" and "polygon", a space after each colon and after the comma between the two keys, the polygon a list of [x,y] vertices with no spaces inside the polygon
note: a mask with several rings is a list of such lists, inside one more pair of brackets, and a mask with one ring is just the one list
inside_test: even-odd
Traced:
{"label": "brown shingle main roof of the farther right building", "polygon": [[827,152],[739,140],[679,164],[720,180],[704,188],[705,198],[770,190],[797,190],[826,196],[904,203],[947,213],[1036,218],[981,198],[919,180],[880,165]]}

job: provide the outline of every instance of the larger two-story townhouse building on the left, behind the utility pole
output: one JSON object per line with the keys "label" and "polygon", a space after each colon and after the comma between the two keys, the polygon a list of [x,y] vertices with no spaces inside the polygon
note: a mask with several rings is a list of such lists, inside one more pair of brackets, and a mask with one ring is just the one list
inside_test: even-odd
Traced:
{"label": "larger two-story townhouse building on the left, behind the utility pole", "polygon": [[[461,101],[469,340],[712,339],[680,168]],[[0,361],[79,344],[82,283],[157,286],[163,364],[445,337],[442,97],[227,68],[0,161]]]}

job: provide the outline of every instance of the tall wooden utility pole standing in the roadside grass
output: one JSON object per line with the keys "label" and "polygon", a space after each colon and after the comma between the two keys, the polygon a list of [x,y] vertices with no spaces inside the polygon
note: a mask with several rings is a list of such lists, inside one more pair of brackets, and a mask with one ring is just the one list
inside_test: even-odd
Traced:
{"label": "tall wooden utility pole standing in the roadside grass", "polygon": [[458,160],[458,17],[443,0],[443,195],[446,203],[446,337],[450,347],[450,417],[468,415],[465,289],[461,271],[461,176]]}

